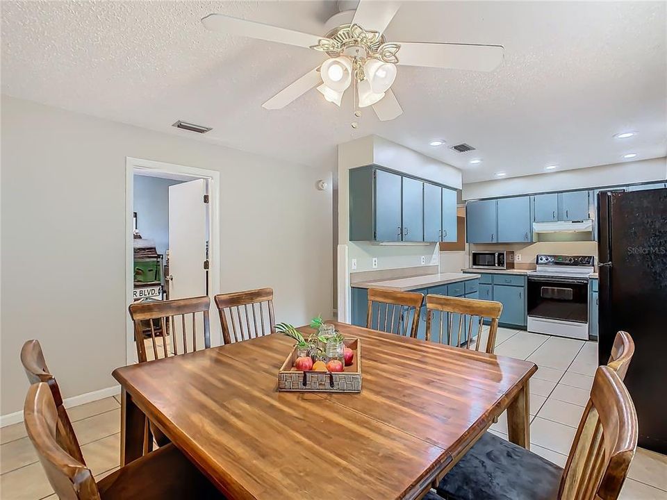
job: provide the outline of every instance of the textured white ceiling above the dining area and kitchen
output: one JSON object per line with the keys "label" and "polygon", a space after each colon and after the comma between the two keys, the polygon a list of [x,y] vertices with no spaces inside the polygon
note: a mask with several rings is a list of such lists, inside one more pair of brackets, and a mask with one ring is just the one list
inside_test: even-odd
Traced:
{"label": "textured white ceiling above the dining area and kitchen", "polygon": [[[356,131],[351,103],[338,109],[315,90],[261,108],[322,55],[211,33],[199,22],[211,12],[324,34],[336,3],[2,1],[2,92],[332,168],[336,144],[374,133],[460,167],[465,182],[667,151],[664,2],[406,2],[388,40],[502,44],[504,63],[493,73],[400,67],[404,114],[381,123],[365,111]],[[176,119],[213,131],[179,131]],[[611,137],[625,130],[639,134]],[[440,138],[479,151],[429,147]]]}

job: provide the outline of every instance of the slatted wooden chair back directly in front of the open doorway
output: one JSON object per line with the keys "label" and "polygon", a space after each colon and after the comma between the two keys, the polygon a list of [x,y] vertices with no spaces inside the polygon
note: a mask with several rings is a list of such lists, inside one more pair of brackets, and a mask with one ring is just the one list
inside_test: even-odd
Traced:
{"label": "slatted wooden chair back directly in front of the open doorway", "polygon": [[[134,322],[134,337],[139,363],[197,351],[198,337],[203,338],[204,349],[211,347],[208,319],[210,307],[211,299],[208,297],[130,304],[129,312]],[[192,315],[191,325],[186,322],[188,315]],[[179,316],[181,317],[180,322],[176,319]],[[156,324],[159,325],[159,332],[156,331]],[[149,333],[147,339],[145,339],[145,332]],[[192,349],[188,346],[188,336],[192,340]],[[179,345],[181,337],[183,344]],[[148,348],[147,342],[150,343]]]}

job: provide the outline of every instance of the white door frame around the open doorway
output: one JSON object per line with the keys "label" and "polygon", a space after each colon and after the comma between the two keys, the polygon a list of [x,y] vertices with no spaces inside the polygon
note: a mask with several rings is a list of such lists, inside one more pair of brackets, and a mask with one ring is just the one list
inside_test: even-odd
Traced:
{"label": "white door frame around the open doorway", "polygon": [[[208,181],[208,296],[220,293],[220,172],[216,170],[187,167],[142,158],[125,158],[125,338],[128,365],[137,363],[137,348],[134,344],[134,326],[127,313],[133,302],[134,247],[133,247],[133,206],[135,170],[146,169],[155,173],[177,174]],[[217,311],[211,301],[211,345],[222,344],[219,322],[215,321]]]}

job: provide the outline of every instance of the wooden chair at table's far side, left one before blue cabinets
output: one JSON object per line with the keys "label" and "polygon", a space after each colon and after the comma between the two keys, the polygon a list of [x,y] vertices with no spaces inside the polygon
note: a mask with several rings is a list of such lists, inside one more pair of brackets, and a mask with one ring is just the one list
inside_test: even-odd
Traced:
{"label": "wooden chair at table's far side, left one before blue cabinets", "polygon": [[424,294],[416,292],[369,288],[366,328],[417,338],[423,301]]}

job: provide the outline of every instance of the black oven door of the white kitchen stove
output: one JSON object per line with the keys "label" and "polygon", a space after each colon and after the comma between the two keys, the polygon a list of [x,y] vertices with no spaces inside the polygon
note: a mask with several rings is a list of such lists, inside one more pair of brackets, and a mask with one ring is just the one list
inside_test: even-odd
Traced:
{"label": "black oven door of the white kitchen stove", "polygon": [[588,322],[588,279],[528,276],[528,315],[566,322]]}

